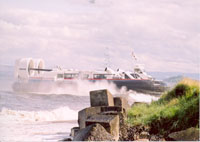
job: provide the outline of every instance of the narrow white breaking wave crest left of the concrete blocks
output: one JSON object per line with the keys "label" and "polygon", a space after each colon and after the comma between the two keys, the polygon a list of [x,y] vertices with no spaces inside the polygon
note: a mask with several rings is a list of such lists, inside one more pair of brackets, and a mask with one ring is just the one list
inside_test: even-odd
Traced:
{"label": "narrow white breaking wave crest left of the concrete blocks", "polygon": [[60,107],[54,110],[23,111],[3,108],[0,112],[3,122],[15,120],[16,122],[45,122],[45,121],[69,121],[77,120],[77,111],[68,107]]}

